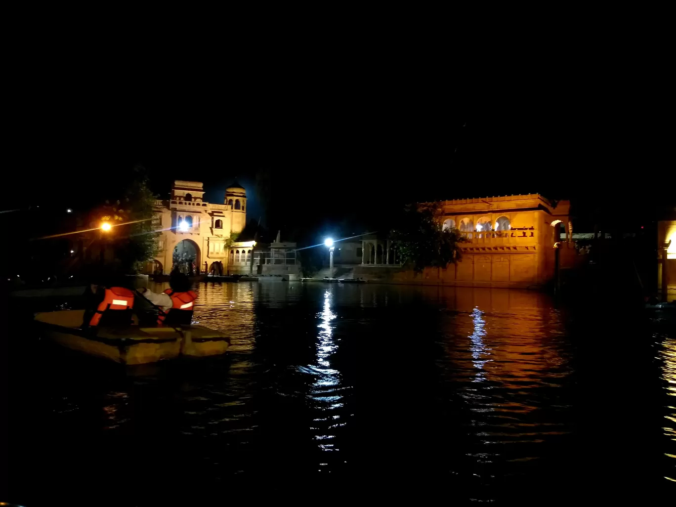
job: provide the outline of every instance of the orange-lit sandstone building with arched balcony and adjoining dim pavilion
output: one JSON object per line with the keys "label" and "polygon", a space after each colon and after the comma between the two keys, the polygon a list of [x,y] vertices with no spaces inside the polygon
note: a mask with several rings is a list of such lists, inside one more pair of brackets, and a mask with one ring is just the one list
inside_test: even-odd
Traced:
{"label": "orange-lit sandstone building with arched balcony and adjoining dim pavilion", "polygon": [[[361,266],[355,276],[402,283],[431,283],[477,287],[531,287],[550,281],[560,266],[573,264],[569,201],[556,206],[539,194],[482,199],[454,199],[441,203],[444,228],[465,237],[462,259],[445,269],[427,268],[422,274],[394,268],[391,242],[364,238]],[[555,245],[557,248],[555,248]]]}

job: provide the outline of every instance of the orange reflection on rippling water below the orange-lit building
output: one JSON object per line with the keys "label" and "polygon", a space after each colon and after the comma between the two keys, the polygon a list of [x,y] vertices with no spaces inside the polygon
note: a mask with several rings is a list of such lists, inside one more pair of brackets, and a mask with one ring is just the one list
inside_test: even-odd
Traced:
{"label": "orange reflection on rippling water below the orange-lit building", "polygon": [[[558,385],[570,369],[562,352],[561,316],[546,295],[504,289],[456,289],[446,304],[445,348],[452,377],[501,388]],[[456,313],[457,312],[457,313]],[[500,406],[512,406],[508,400]],[[533,407],[521,404],[521,410]]]}

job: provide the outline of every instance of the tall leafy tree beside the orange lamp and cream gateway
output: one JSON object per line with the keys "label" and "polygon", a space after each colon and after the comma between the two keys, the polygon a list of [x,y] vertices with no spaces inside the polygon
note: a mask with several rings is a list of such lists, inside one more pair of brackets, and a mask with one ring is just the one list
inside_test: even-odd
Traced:
{"label": "tall leafy tree beside the orange lamp and cream gateway", "polygon": [[139,272],[145,263],[157,253],[159,232],[153,226],[153,204],[156,196],[148,186],[148,178],[142,166],[134,168],[122,201],[106,206],[107,218],[113,224],[116,258],[125,272]]}

